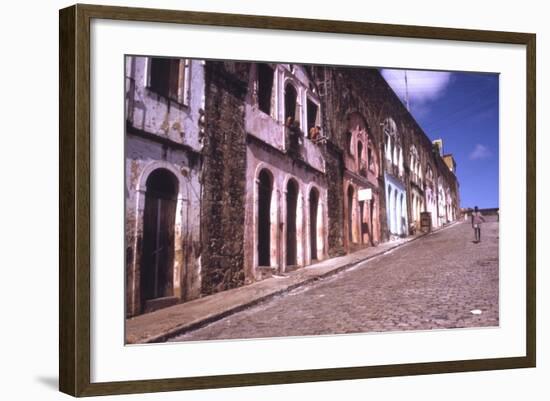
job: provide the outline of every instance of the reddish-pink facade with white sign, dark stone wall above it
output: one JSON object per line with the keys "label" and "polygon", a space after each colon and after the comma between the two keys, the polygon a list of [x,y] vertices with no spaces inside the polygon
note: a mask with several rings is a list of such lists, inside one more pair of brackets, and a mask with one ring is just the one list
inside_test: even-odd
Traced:
{"label": "reddish-pink facade with white sign, dark stone wall above it", "polygon": [[[329,253],[338,255],[386,240],[377,82],[355,68],[312,68],[320,86],[327,139]],[[368,199],[365,197],[368,193]]]}

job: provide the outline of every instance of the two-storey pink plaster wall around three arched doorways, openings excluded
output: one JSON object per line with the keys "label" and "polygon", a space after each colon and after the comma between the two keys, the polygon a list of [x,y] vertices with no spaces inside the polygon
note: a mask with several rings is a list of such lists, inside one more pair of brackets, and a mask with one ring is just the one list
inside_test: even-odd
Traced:
{"label": "two-storey pink plaster wall around three arched doorways, openings excluded", "polygon": [[[273,272],[284,272],[286,266],[286,185],[289,179],[298,183],[298,210],[296,222],[297,264],[311,263],[310,241],[317,239],[317,259],[328,255],[328,208],[325,184],[326,164],[322,144],[308,139],[308,100],[317,105],[316,125],[321,124],[323,113],[315,82],[302,66],[290,64],[269,64],[273,69],[273,85],[269,113],[260,110],[258,88],[260,87],[259,64],[250,63],[248,89],[245,105],[245,128],[247,141],[246,173],[246,215],[245,215],[245,281],[252,282],[269,276]],[[285,124],[285,88],[291,85],[296,91],[297,126]],[[265,109],[264,109],[265,110]],[[299,139],[291,142],[290,136]],[[298,145],[298,146],[297,146]],[[297,147],[296,147],[297,146]],[[270,206],[270,266],[258,268],[258,175],[266,169],[273,179]],[[315,186],[319,191],[317,211],[317,233],[310,231],[309,191]]]}

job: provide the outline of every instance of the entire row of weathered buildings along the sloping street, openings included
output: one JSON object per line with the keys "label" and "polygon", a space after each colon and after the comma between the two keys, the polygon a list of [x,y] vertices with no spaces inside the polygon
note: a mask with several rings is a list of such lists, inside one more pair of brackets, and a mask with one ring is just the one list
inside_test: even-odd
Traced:
{"label": "entire row of weathered buildings along the sloping street, openings included", "polygon": [[128,316],[458,216],[456,163],[375,69],[129,57],[126,75]]}

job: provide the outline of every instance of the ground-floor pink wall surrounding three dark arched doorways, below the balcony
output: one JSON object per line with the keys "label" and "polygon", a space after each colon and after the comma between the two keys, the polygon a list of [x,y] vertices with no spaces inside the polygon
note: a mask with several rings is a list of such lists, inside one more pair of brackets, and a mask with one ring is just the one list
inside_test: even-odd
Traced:
{"label": "ground-floor pink wall surrounding three dark arched doorways, below the balcony", "polygon": [[[261,263],[258,255],[259,209],[266,206],[261,204],[258,194],[262,172],[271,177],[269,264]],[[293,224],[287,218],[287,195],[291,181],[297,184],[295,263],[289,263],[287,259],[288,226]],[[273,152],[253,139],[247,146],[246,182],[245,266],[249,281],[311,264],[312,259],[320,261],[327,257],[327,184],[323,174],[303,164],[293,163],[285,154]],[[312,203],[312,191],[316,191],[315,205]],[[314,212],[312,207],[315,207]],[[315,219],[314,224],[312,219]],[[316,241],[315,255],[312,255],[312,236]]]}

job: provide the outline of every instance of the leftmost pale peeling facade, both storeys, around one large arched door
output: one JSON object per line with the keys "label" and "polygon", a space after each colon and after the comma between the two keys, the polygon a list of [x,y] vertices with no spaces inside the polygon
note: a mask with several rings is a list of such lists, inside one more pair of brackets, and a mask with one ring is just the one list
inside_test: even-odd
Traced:
{"label": "leftmost pale peeling facade, both storeys, around one large arched door", "polygon": [[[204,108],[204,66],[185,60],[187,82],[185,103],[178,103],[150,87],[151,58],[126,59],[126,296],[127,315],[149,312],[159,307],[197,298],[201,292],[200,207],[202,114]],[[185,65],[183,63],[186,63]],[[149,72],[148,72],[149,71]],[[145,216],[153,202],[153,178],[164,174],[176,183],[173,195],[173,233],[157,248],[169,247],[167,260],[149,257],[151,240],[144,233],[151,224]],[[149,187],[149,188],[148,188]],[[154,210],[153,210],[154,212]],[[160,212],[158,212],[160,213]],[[160,217],[159,217],[160,218]],[[160,223],[153,230],[164,235]],[[156,241],[156,242],[155,242]],[[148,243],[146,243],[148,242]],[[173,249],[172,249],[173,248]],[[154,250],[153,250],[154,252]],[[158,258],[157,258],[158,259]],[[169,291],[146,293],[143,277],[151,269],[167,270],[158,280]],[[154,266],[153,266],[154,265]],[[159,284],[159,288],[162,284]]]}

